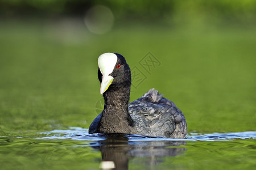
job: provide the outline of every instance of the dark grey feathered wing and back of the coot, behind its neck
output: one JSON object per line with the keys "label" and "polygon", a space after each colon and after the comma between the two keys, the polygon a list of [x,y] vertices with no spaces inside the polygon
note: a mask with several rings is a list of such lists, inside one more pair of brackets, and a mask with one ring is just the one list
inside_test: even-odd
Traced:
{"label": "dark grey feathered wing and back of the coot, behind its neck", "polygon": [[187,123],[183,113],[172,101],[154,89],[131,102],[129,112],[138,122],[137,129],[141,129],[139,131],[145,135],[150,132],[154,136],[185,138],[187,134]]}

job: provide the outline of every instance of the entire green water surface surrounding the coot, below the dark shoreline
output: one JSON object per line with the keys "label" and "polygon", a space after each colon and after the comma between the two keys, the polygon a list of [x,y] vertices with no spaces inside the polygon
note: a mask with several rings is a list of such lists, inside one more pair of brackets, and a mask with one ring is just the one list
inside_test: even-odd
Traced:
{"label": "entire green water surface surrounding the coot, below the dark shoreline", "polygon": [[[255,42],[254,29],[243,27],[117,25],[98,36],[72,20],[2,21],[1,169],[98,169],[100,151],[83,141],[35,137],[89,128],[102,99],[97,57],[105,52],[123,54],[146,77],[132,87],[131,101],[159,90],[183,111],[189,133],[255,131]],[[149,72],[139,64],[148,52],[160,62]],[[155,168],[255,167],[254,139],[179,147],[187,150],[163,157]],[[144,165],[148,158],[129,162],[133,169]]]}

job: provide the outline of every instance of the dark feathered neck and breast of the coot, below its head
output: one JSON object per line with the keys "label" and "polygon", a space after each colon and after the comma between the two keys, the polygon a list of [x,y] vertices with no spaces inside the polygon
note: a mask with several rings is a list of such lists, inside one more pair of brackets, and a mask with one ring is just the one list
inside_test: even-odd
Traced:
{"label": "dark feathered neck and breast of the coot, below its head", "polygon": [[[104,110],[100,120],[98,131],[100,133],[130,133],[133,120],[128,111],[130,100],[130,84],[112,84],[103,97],[105,100]],[[119,131],[123,129],[123,131]]]}

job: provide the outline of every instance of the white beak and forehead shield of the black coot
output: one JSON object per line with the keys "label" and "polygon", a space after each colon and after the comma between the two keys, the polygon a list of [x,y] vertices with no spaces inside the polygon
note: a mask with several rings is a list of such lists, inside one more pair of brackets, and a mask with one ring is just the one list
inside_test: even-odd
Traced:
{"label": "white beak and forehead shield of the black coot", "polygon": [[98,57],[98,67],[100,68],[102,76],[100,92],[103,94],[108,90],[110,84],[113,82],[113,76],[109,75],[113,72],[117,63],[117,55],[114,53],[104,53]]}

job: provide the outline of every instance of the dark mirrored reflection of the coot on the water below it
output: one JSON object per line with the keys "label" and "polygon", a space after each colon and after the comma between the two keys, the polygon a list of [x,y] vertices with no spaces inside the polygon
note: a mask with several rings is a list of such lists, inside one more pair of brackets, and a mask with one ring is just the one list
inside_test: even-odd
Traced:
{"label": "dark mirrored reflection of the coot on the water below it", "polygon": [[101,151],[101,169],[128,169],[129,159],[136,157],[148,158],[144,163],[154,167],[163,162],[161,158],[176,156],[187,150],[181,147],[170,147],[186,145],[185,141],[167,141],[158,137],[144,137],[147,139],[145,141],[141,135],[119,133],[104,134],[103,137],[106,138],[104,141],[98,141],[97,145],[93,145],[93,148]]}

